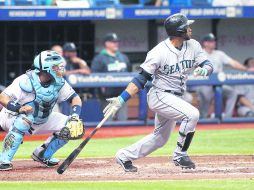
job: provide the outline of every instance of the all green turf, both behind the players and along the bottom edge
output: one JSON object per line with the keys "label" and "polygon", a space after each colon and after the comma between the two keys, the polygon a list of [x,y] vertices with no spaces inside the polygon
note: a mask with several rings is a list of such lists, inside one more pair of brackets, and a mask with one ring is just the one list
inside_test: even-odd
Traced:
{"label": "all green turf, both behind the players and along the bottom edge", "polygon": [[[172,154],[178,133],[174,132],[163,148],[151,156],[169,156]],[[92,139],[81,152],[79,158],[113,157],[115,152],[142,136]],[[15,159],[30,159],[34,148],[43,141],[25,141],[16,154]],[[66,158],[80,141],[72,141],[57,154],[58,158]],[[253,155],[254,129],[198,130],[190,147],[190,155]],[[14,172],[14,171],[13,171]],[[96,172],[96,170],[94,171]],[[254,172],[254,171],[253,171]],[[0,189],[219,189],[248,190],[254,189],[254,180],[223,179],[223,180],[163,180],[163,181],[109,181],[109,182],[1,182]]]}

